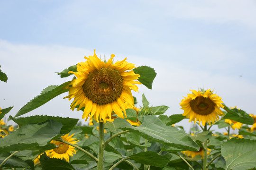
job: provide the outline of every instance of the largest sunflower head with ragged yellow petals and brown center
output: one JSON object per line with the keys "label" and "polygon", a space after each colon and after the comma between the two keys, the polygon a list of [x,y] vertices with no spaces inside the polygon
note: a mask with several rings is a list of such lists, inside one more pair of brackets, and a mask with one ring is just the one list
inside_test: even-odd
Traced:
{"label": "largest sunflower head with ragged yellow petals and brown center", "polygon": [[137,80],[139,75],[132,70],[134,64],[126,59],[113,64],[114,54],[108,62],[104,62],[94,55],[84,57],[85,62],[77,64],[77,72],[70,71],[76,78],[72,80],[68,89],[69,95],[64,98],[71,100],[71,109],[84,108],[82,119],[90,118],[106,122],[114,111],[119,118],[126,117],[126,105],[134,106],[131,90],[138,91],[135,84],[141,84]]}

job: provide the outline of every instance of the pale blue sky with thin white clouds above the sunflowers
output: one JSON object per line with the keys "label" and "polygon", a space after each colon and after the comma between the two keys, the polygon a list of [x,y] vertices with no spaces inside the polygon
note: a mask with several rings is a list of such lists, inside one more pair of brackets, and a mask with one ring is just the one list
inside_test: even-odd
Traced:
{"label": "pale blue sky with thin white clouds above the sunflowers", "polygon": [[[210,88],[227,106],[256,114],[255,8],[254,0],[0,0],[0,69],[8,76],[0,107],[14,106],[14,116],[48,85],[71,80],[55,72],[96,49],[155,69],[152,90],[133,93],[137,107],[145,93],[150,105],[170,107],[166,115],[182,114],[190,89]],[[23,116],[82,120],[66,95]]]}

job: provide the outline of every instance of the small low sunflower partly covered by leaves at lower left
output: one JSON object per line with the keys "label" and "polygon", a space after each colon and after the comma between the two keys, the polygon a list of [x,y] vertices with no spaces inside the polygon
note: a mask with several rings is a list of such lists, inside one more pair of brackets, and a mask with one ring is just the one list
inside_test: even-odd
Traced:
{"label": "small low sunflower partly covered by leaves at lower left", "polygon": [[[76,138],[72,138],[74,134],[72,134],[71,136],[69,136],[69,134],[66,134],[64,136],[61,136],[62,139],[66,142],[69,142],[71,144],[76,144],[75,141]],[[51,141],[52,144],[55,144],[57,147],[55,149],[51,149],[49,150],[50,153],[50,158],[57,158],[57,159],[65,159],[65,161],[69,161],[69,157],[73,156],[73,154],[75,154],[77,151],[74,149],[73,146],[68,145],[68,144],[64,144],[62,142],[59,141]]]}

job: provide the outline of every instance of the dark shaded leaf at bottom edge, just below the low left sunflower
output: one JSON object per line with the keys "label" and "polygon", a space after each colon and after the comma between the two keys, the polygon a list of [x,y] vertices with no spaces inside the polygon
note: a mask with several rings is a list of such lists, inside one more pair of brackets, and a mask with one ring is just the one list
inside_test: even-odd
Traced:
{"label": "dark shaded leaf at bottom edge, just below the low left sunflower", "polygon": [[42,170],[75,170],[74,167],[61,159],[49,158],[42,154],[39,159]]}

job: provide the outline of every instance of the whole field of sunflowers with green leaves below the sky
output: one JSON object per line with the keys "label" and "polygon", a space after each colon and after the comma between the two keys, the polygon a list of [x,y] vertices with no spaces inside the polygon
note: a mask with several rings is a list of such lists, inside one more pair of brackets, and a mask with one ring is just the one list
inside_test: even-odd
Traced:
{"label": "whole field of sunflowers with green leaves below the sky", "polygon": [[[144,94],[137,108],[132,91],[152,89],[155,70],[114,57],[94,51],[57,73],[69,80],[46,87],[14,117],[7,115],[13,107],[0,108],[0,170],[256,169],[256,115],[226,106],[210,89],[191,90],[180,102],[183,114],[165,115],[169,107],[150,106]],[[0,80],[8,80],[2,70]],[[61,115],[24,117],[62,93],[88,126]],[[176,126],[183,119],[194,123],[189,134]]]}

